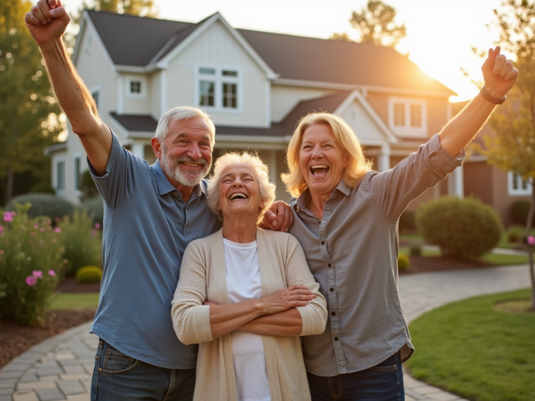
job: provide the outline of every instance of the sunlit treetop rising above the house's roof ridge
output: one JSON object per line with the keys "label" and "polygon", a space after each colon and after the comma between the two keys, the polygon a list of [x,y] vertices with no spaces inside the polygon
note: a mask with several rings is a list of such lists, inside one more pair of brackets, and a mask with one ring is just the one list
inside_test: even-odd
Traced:
{"label": "sunlit treetop rising above the house's roof ridge", "polygon": [[[353,11],[349,22],[359,32],[360,43],[396,47],[407,34],[405,25],[394,22],[396,10],[379,0],[370,0],[360,12]],[[333,33],[331,39],[349,40],[347,33]]]}

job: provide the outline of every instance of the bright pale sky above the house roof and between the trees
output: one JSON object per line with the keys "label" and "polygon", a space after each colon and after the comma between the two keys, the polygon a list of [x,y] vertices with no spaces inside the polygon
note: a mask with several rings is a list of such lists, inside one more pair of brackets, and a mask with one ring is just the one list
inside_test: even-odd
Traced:
{"label": "bright pale sky above the house roof and between the trees", "polygon": [[[498,38],[493,14],[502,0],[386,0],[397,11],[396,23],[405,24],[407,36],[398,45],[427,74],[458,93],[451,101],[474,97],[481,81],[483,61],[471,46],[488,49]],[[82,0],[63,1],[67,10],[77,10]],[[155,0],[159,17],[198,22],[219,11],[234,28],[298,36],[329,38],[347,32],[356,38],[349,23],[353,10],[366,0]],[[489,28],[490,26],[490,28]],[[467,78],[460,71],[470,73]]]}

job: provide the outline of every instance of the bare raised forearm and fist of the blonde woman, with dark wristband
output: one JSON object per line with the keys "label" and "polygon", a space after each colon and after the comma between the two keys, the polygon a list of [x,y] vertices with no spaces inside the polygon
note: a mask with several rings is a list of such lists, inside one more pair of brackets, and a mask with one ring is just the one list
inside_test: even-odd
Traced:
{"label": "bare raised forearm and fist of the blonde woman, with dark wristband", "polygon": [[481,93],[440,132],[440,145],[451,156],[458,155],[472,141],[496,104],[501,104],[503,97],[513,88],[518,78],[518,70],[513,68],[513,63],[503,54],[499,54],[499,47],[488,50],[481,72],[485,80]]}

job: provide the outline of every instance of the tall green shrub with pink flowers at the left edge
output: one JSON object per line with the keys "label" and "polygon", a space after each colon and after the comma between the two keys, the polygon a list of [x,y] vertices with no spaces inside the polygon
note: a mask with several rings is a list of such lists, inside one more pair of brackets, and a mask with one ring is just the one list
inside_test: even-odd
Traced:
{"label": "tall green shrub with pink flowers at the left edge", "polygon": [[50,219],[30,219],[28,209],[0,214],[0,320],[37,324],[58,283],[63,247]]}

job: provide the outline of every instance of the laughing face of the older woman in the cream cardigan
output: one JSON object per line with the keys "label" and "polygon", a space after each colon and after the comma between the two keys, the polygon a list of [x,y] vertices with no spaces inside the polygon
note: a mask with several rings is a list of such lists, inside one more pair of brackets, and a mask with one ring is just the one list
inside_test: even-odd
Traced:
{"label": "laughing face of the older woman in the cream cardigan", "polygon": [[264,201],[261,199],[254,168],[249,164],[231,164],[224,168],[221,176],[218,209],[223,214],[223,222],[240,217],[249,218],[256,225]]}

